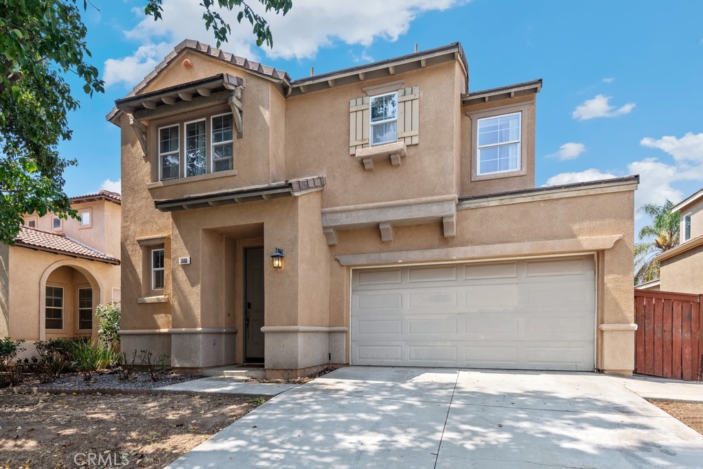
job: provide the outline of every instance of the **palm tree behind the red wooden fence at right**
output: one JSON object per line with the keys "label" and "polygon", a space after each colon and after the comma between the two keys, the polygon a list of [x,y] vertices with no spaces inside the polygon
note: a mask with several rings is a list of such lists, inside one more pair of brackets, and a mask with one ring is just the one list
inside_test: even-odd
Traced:
{"label": "palm tree behind the red wooden fence at right", "polygon": [[638,210],[652,219],[652,224],[640,230],[640,241],[654,240],[635,245],[635,285],[659,278],[657,255],[678,245],[679,213],[672,213],[672,207],[673,203],[667,199],[664,205],[645,204]]}

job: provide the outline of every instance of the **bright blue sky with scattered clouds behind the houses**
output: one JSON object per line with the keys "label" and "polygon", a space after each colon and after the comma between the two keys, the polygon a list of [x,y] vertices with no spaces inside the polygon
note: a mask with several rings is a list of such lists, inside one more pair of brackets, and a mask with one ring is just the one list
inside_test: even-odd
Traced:
{"label": "bright blue sky with scattered clouds behind the houses", "polygon": [[[156,23],[142,13],[146,0],[93,3],[88,44],[107,86],[93,98],[75,86],[82,108],[59,148],[79,162],[65,173],[69,195],[119,188],[120,130],[105,121],[115,99],[181,40],[214,45],[196,0],[164,0]],[[293,0],[285,18],[271,18],[273,50],[234,20],[221,49],[297,79],[459,41],[470,91],[543,79],[538,186],[640,174],[638,207],[703,186],[701,18],[699,0]]]}

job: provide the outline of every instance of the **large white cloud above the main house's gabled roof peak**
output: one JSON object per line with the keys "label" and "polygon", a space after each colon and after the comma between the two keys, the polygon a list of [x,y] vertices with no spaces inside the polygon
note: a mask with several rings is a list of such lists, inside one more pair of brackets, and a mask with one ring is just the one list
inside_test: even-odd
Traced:
{"label": "large white cloud above the main house's gabled roof peak", "polygon": [[[427,11],[442,11],[467,0],[297,0],[287,15],[265,13],[273,32],[273,49],[254,47],[252,30],[243,20],[239,25],[236,13],[224,11],[223,18],[232,26],[227,44],[221,47],[238,56],[260,60],[259,54],[269,58],[311,58],[321,47],[334,41],[349,45],[370,46],[377,39],[396,41],[408,32],[410,23]],[[252,2],[252,8],[264,13],[263,6]],[[195,39],[214,45],[212,31],[206,31],[202,20],[202,6],[192,0],[171,0],[163,4],[163,19],[154,21],[135,10],[141,18],[127,39],[143,44],[131,56],[111,58],[105,62],[105,82],[136,84],[150,72],[175,44],[183,39]],[[165,49],[165,51],[164,51]],[[411,53],[412,51],[408,51]],[[109,63],[109,65],[108,65]],[[108,75],[109,67],[109,75]],[[146,72],[145,72],[146,71]]]}

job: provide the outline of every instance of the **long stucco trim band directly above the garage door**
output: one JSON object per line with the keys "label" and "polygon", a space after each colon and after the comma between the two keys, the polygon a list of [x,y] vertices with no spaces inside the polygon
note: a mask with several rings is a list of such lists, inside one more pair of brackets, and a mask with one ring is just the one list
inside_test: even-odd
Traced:
{"label": "long stucco trim band directly above the garage door", "polygon": [[372,252],[335,256],[343,266],[370,264],[396,264],[399,262],[437,262],[466,259],[490,259],[496,257],[526,257],[534,255],[567,254],[607,250],[621,240],[621,235],[595,236],[560,240],[527,241],[460,248],[441,248],[396,252]]}

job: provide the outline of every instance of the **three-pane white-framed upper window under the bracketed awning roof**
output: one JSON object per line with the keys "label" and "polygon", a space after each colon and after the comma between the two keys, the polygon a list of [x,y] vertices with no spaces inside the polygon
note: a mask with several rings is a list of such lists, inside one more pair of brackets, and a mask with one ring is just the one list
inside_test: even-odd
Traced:
{"label": "three-pane white-framed upper window under the bracketed awning roof", "polygon": [[234,169],[233,123],[233,115],[228,113],[161,127],[159,179]]}

